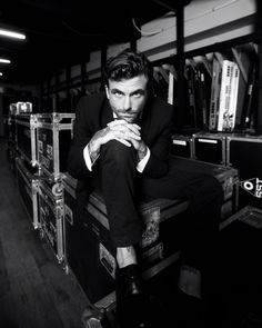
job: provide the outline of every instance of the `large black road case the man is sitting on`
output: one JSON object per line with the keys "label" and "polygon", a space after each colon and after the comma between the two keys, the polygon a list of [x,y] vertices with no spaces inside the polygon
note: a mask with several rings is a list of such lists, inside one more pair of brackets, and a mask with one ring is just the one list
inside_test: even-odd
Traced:
{"label": "large black road case the man is sitting on", "polygon": [[[221,221],[238,209],[238,171],[233,168],[201,162],[182,157],[178,166],[188,166],[194,171],[213,175],[224,190]],[[79,221],[75,199],[75,180],[63,177],[66,261],[79,280],[95,308],[112,308],[114,272],[117,261],[109,237],[107,208],[101,195],[92,192],[84,209],[84,219]],[[143,277],[150,279],[180,258],[181,225],[189,202],[181,199],[154,201],[139,205],[144,222],[140,242]]]}

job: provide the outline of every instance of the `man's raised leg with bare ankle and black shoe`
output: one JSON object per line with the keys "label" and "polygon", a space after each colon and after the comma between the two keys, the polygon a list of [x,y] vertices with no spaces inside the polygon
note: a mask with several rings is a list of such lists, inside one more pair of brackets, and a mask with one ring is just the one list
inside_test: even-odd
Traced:
{"label": "man's raised leg with bare ankle and black shoe", "polygon": [[110,141],[101,148],[99,165],[110,236],[117,249],[118,319],[124,328],[134,328],[143,320],[142,281],[135,255],[141,238],[135,207],[137,155],[133,148]]}

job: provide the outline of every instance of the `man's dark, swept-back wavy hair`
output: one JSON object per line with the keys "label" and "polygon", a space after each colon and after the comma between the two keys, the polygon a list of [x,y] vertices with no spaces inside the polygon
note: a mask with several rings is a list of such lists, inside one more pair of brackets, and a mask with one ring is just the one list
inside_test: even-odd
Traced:
{"label": "man's dark, swept-back wavy hair", "polygon": [[132,49],[125,49],[115,57],[108,59],[103,69],[103,82],[109,80],[121,81],[144,74],[148,78],[148,87],[151,85],[153,71],[150,61],[143,53]]}

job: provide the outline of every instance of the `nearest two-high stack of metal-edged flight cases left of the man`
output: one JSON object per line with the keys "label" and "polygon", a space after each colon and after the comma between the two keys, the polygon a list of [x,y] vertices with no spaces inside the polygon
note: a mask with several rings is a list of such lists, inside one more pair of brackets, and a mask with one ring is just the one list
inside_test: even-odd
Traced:
{"label": "nearest two-high stack of metal-edged flight cases left of the man", "polygon": [[59,262],[64,260],[64,223],[62,175],[72,139],[74,113],[39,113],[37,153],[41,180],[39,183],[39,220]]}

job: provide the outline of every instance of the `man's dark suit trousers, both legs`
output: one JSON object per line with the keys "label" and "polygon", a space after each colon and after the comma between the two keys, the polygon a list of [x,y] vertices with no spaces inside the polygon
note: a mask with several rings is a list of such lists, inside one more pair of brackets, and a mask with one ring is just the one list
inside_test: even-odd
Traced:
{"label": "man's dark suit trousers, both legs", "polygon": [[98,168],[115,247],[139,242],[139,200],[189,199],[182,231],[182,258],[189,266],[202,267],[216,238],[223,200],[221,183],[214,177],[178,167],[175,158],[171,158],[167,176],[148,178],[137,170],[135,150],[118,141],[110,141],[101,148]]}

